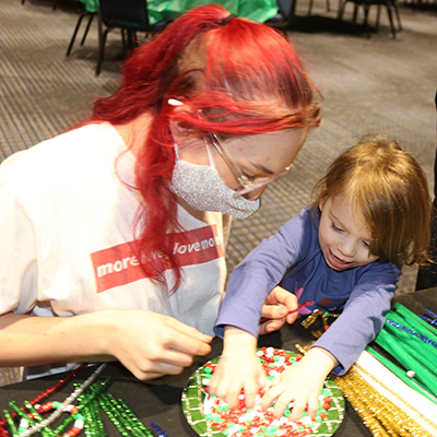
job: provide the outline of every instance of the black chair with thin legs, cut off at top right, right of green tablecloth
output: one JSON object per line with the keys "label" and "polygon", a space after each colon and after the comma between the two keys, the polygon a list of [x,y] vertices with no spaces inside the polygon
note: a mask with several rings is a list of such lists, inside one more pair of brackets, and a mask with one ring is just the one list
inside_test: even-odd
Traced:
{"label": "black chair with thin legs, cut off at top right, right of green tablecloth", "polygon": [[[393,38],[395,38],[397,31],[398,32],[402,31],[401,17],[399,15],[397,0],[343,0],[339,7],[339,20],[343,20],[344,9],[346,7],[346,3],[349,3],[349,2],[354,3],[354,13],[353,13],[354,22],[356,21],[359,7],[363,8],[364,32],[366,33],[368,38],[370,37],[370,31],[369,31],[369,26],[368,26],[368,14],[369,14],[369,9],[373,5],[378,7],[377,17],[376,17],[376,29],[377,31],[379,28],[379,17],[380,17],[380,12],[381,12],[382,7],[385,7],[387,10],[387,15],[389,17],[391,34],[393,35]],[[393,15],[395,16],[397,22],[398,22],[398,29],[395,28],[395,25],[394,25]]]}

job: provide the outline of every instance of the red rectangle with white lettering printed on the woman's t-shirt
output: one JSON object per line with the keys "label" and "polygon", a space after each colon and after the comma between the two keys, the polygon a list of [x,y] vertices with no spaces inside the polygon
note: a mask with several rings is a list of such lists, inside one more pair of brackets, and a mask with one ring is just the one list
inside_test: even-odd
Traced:
{"label": "red rectangle with white lettering printed on the woman's t-shirt", "polygon": [[[202,264],[224,256],[216,225],[175,233],[173,238],[173,253],[181,267]],[[146,257],[140,257],[144,259],[139,259],[132,243],[91,253],[97,293],[146,277],[141,268]]]}

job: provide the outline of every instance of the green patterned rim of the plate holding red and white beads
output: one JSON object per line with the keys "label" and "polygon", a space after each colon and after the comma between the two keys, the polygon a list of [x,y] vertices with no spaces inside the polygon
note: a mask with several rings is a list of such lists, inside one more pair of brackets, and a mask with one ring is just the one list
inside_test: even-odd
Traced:
{"label": "green patterned rim of the plate holding red and white beads", "polygon": [[[284,352],[290,356],[297,355],[294,352]],[[209,363],[216,364],[218,359],[220,356]],[[210,422],[206,421],[203,414],[203,400],[205,398],[205,392],[203,390],[202,379],[204,375],[206,375],[204,371],[204,367],[205,365],[199,367],[188,379],[188,382],[184,388],[181,401],[184,414],[187,418],[187,422],[200,437],[226,437],[223,433],[211,426]],[[327,378],[327,380],[324,381],[324,387],[329,389],[332,393],[331,408],[328,413],[328,420],[323,421],[321,425],[316,429],[316,432],[311,434],[311,436],[332,436],[339,428],[344,417],[343,393],[341,392],[336,383],[330,378]]]}

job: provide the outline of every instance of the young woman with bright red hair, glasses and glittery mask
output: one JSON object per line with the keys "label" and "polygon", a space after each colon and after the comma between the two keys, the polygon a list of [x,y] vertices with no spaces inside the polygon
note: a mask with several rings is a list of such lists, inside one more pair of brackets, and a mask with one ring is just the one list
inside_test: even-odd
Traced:
{"label": "young woman with bright red hair, glasses and glittery mask", "polygon": [[[84,126],[8,158],[0,366],[118,359],[149,379],[206,354],[228,218],[291,169],[315,94],[282,34],[201,7],[134,50]],[[272,330],[287,297],[269,302]]]}

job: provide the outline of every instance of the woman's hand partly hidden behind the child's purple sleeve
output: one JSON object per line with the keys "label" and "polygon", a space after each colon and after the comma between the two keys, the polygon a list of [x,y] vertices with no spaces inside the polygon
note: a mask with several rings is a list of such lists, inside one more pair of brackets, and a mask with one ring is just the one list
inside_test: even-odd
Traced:
{"label": "woman's hand partly hidden behind the child's purple sleeve", "polygon": [[297,318],[297,298],[293,293],[276,286],[267,296],[261,310],[259,334],[281,329],[285,322],[293,324]]}

